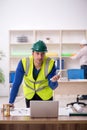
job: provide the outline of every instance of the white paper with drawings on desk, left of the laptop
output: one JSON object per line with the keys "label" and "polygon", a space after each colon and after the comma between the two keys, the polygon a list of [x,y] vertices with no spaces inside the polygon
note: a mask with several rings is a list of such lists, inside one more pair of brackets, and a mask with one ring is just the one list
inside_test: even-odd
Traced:
{"label": "white paper with drawings on desk, left of the laptop", "polygon": [[30,116],[30,108],[14,108],[10,111],[11,116]]}

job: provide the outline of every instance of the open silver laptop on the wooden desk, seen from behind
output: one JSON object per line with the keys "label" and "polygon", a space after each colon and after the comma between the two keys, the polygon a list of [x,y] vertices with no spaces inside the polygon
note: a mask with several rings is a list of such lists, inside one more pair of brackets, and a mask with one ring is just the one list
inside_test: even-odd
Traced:
{"label": "open silver laptop on the wooden desk, seen from behind", "polygon": [[31,117],[58,117],[58,101],[30,101],[30,116]]}

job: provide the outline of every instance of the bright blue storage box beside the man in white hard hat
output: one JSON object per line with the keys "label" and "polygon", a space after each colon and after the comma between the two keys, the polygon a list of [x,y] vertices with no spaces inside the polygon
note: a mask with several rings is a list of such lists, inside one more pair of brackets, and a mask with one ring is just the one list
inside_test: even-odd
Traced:
{"label": "bright blue storage box beside the man in white hard hat", "polygon": [[68,69],[67,70],[68,79],[84,79],[83,69]]}

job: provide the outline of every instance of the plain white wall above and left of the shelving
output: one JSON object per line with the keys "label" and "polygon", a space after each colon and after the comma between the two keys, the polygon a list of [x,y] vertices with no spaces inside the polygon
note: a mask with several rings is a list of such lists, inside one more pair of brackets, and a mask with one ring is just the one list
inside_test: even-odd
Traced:
{"label": "plain white wall above and left of the shelving", "polygon": [[6,54],[0,95],[9,90],[10,29],[87,29],[87,0],[0,0],[0,50]]}

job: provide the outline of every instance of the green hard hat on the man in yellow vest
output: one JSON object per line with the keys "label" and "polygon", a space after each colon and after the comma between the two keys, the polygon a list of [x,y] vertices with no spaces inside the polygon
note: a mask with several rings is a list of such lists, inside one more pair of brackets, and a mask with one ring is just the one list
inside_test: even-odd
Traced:
{"label": "green hard hat on the man in yellow vest", "polygon": [[33,44],[32,51],[46,52],[47,46],[43,41],[39,40],[39,41],[37,41],[36,43]]}

